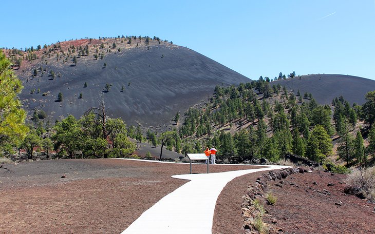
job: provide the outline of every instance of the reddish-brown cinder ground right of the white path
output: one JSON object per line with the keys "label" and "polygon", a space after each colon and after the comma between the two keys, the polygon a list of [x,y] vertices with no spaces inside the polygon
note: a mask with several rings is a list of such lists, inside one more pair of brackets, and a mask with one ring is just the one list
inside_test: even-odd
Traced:
{"label": "reddish-brown cinder ground right of the white path", "polygon": [[[262,173],[243,175],[224,187],[216,203],[213,233],[244,233],[241,196]],[[266,192],[271,191],[278,200],[273,206],[265,205],[269,211],[265,223],[282,230],[280,233],[375,233],[375,204],[345,194],[345,177],[313,171],[289,175],[283,179],[283,187],[275,186],[280,180],[268,182]],[[273,219],[277,223],[272,224]]]}

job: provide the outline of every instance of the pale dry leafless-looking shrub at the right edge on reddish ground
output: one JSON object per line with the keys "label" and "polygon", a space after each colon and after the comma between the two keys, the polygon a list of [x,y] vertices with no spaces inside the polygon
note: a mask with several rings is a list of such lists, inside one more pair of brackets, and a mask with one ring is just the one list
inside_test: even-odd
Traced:
{"label": "pale dry leafless-looking shrub at the right edge on reddish ground", "polygon": [[345,182],[355,194],[362,193],[370,202],[375,203],[375,166],[354,170]]}

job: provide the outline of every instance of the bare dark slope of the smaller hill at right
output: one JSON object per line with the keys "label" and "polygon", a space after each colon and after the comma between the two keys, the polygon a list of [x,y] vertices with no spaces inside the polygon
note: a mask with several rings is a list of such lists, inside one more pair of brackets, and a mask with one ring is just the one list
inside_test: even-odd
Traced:
{"label": "bare dark slope of the smaller hill at right", "polygon": [[275,81],[271,85],[278,83],[294,90],[294,93],[297,93],[298,89],[301,95],[305,92],[311,93],[320,104],[330,104],[340,95],[351,104],[363,104],[366,92],[375,90],[375,81],[352,75],[302,75],[301,80],[296,76],[293,79]]}

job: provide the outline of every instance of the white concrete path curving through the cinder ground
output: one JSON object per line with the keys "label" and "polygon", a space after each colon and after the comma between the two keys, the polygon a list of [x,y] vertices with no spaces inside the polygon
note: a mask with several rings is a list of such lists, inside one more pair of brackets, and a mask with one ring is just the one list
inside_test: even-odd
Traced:
{"label": "white concrete path curving through the cinder ground", "polygon": [[210,174],[174,175],[173,178],[191,181],[143,212],[122,234],[211,233],[216,200],[228,182],[244,174],[287,167],[268,166]]}

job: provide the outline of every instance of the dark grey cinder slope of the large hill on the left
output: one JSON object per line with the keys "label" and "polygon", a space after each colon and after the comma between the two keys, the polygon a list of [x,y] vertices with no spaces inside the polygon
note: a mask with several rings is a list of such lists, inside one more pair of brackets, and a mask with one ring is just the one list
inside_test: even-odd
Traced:
{"label": "dark grey cinder slope of the large hill on the left", "polygon": [[[39,68],[40,64],[35,67]],[[47,67],[44,76],[28,82],[27,76],[20,74],[25,86],[21,100],[29,111],[37,107],[54,119],[67,114],[79,117],[89,107],[98,106],[99,95],[103,92],[109,114],[121,116],[132,125],[137,120],[143,126],[168,123],[177,111],[184,111],[201,100],[207,101],[216,85],[250,81],[208,57],[172,44],[150,45],[149,50],[130,48],[105,54],[103,60],[93,60],[90,54],[78,59],[77,66],[59,62],[43,67]],[[62,77],[50,80],[51,77],[47,77],[50,70],[55,74],[61,72]],[[83,87],[85,82],[87,88]],[[112,84],[109,92],[104,92],[106,83]],[[123,92],[120,91],[122,86]],[[30,94],[30,90],[38,88],[40,93]],[[44,92],[49,95],[42,96]],[[55,102],[59,92],[64,96],[61,103]],[[83,99],[78,98],[80,93]]]}

